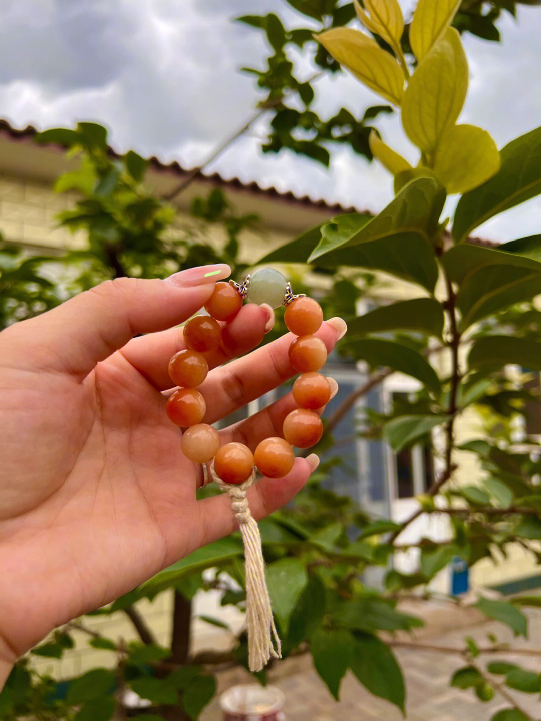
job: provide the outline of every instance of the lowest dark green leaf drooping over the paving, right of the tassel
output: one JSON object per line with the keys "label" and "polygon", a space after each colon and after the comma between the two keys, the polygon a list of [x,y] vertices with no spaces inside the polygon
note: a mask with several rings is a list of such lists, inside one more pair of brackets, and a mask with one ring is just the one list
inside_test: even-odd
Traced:
{"label": "lowest dark green leaf drooping over the paving, right of the tassel", "polygon": [[371,694],[395,704],[404,712],[404,680],[388,645],[370,634],[355,634],[350,668]]}

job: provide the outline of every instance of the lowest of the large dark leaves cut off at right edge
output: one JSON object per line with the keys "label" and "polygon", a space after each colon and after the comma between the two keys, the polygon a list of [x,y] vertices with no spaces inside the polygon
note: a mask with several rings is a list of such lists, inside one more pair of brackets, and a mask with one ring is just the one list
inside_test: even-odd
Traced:
{"label": "lowest of the large dark leaves cut off at right edge", "polygon": [[541,343],[509,335],[487,335],[475,340],[468,355],[470,368],[496,370],[509,363],[541,371]]}

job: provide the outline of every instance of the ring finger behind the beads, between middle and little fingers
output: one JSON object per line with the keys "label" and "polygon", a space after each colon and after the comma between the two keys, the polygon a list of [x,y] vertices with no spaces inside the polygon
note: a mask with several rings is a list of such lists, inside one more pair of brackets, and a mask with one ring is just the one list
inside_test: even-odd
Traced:
{"label": "ring finger behind the beads, between middle and little fingers", "polygon": [[[327,380],[331,386],[331,397],[329,398],[331,400],[338,392],[338,384],[334,378],[328,377]],[[298,408],[298,404],[295,403],[292,393],[287,393],[267,408],[246,418],[246,420],[241,420],[230,428],[220,430],[222,446],[225,446],[225,443],[243,443],[251,451],[255,451],[258,444],[264,441],[265,438],[271,438],[272,436],[283,438],[282,426],[285,417],[295,408]],[[316,413],[321,415],[324,410],[325,406],[318,408]]]}

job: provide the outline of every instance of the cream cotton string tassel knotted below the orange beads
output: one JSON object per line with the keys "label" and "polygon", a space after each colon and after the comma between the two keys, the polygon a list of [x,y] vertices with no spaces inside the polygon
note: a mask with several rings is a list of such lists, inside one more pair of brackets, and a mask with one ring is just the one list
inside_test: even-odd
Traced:
{"label": "cream cotton string tassel knotted below the orange beads", "polygon": [[[261,671],[269,658],[282,658],[282,646],[278,637],[265,579],[265,562],[261,549],[261,534],[254,516],[250,513],[246,491],[256,479],[251,478],[239,485],[224,483],[215,473],[214,462],[210,475],[218,486],[231,496],[235,518],[241,527],[246,556],[246,622],[248,625],[248,659],[250,671]],[[272,635],[271,635],[272,632]],[[276,649],[274,649],[276,642]]]}

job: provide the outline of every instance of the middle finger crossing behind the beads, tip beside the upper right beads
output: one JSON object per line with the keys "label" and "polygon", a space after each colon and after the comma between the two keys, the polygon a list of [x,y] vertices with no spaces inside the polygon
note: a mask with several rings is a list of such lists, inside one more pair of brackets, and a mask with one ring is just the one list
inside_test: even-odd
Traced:
{"label": "middle finger crossing behind the beads, tip beside the upper right beads", "polygon": [[[323,340],[327,353],[330,353],[345,330],[346,324],[341,318],[331,318],[322,323],[314,335]],[[292,367],[287,353],[294,337],[292,333],[282,335],[263,348],[209,373],[198,388],[207,401],[203,423],[215,423],[295,376],[298,371]]]}

